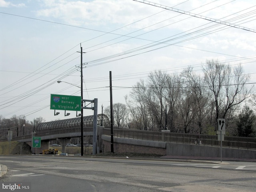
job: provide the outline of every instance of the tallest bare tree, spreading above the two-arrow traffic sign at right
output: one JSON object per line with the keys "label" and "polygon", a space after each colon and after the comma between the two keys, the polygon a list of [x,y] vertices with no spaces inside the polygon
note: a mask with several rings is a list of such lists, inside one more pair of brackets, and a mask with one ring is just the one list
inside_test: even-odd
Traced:
{"label": "tallest bare tree, spreading above the two-arrow traffic sign at right", "polygon": [[203,67],[204,78],[213,95],[215,118],[225,118],[229,110],[252,94],[252,88],[246,86],[250,75],[243,74],[241,64],[232,69],[229,64],[222,64],[218,60],[207,60],[206,63]]}

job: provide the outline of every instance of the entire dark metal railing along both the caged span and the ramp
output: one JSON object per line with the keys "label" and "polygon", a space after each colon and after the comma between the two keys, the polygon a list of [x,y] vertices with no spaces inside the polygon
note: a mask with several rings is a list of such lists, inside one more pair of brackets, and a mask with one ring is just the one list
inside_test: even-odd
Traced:
{"label": "entire dark metal railing along both the caged span and the ramp", "polygon": [[[80,127],[66,128],[61,130],[44,130],[44,131],[36,131],[36,136],[40,137],[40,136],[47,136],[47,135],[80,132],[80,131],[81,131]],[[84,132],[93,132],[93,128],[84,127]],[[110,136],[110,128],[104,128],[103,134],[106,136]],[[198,134],[134,130],[134,129],[126,129],[126,128],[114,128],[114,137],[174,142],[174,143],[182,143],[182,144],[195,144],[196,140],[199,139],[202,145],[220,146],[220,141],[218,141],[217,135],[202,135],[202,134],[198,135]],[[13,137],[12,140],[17,141],[17,140],[25,140],[30,138],[31,138],[31,134],[19,136],[19,137]],[[7,141],[7,138],[2,139],[1,141]],[[243,149],[256,150],[256,138],[225,136],[224,141],[222,141],[222,146],[229,147],[229,148],[243,148]]]}

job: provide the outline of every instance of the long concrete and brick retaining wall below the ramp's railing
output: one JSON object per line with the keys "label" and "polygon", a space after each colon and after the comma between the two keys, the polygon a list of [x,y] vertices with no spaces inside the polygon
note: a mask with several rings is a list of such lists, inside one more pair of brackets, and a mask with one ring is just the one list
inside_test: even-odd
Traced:
{"label": "long concrete and brick retaining wall below the ramp's railing", "polygon": [[[102,135],[101,138],[101,150],[103,152],[111,152],[110,136]],[[147,153],[175,156],[220,157],[220,147],[216,146],[202,146],[194,144],[180,144],[128,138],[114,138],[114,152]],[[256,159],[256,150],[223,147],[222,157]]]}

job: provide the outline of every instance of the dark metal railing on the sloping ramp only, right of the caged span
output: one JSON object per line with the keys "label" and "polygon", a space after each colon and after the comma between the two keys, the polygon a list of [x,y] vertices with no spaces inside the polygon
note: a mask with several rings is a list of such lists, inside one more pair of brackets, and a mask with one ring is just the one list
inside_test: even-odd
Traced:
{"label": "dark metal railing on the sloping ramp only, right of the caged span", "polygon": [[[133,129],[114,129],[114,137],[141,139],[151,141],[175,142],[182,144],[196,144],[199,139],[202,145],[220,146],[217,135],[198,135],[171,132],[154,132]],[[104,135],[110,136],[110,128],[104,128]],[[256,150],[256,138],[225,136],[222,146],[229,148],[245,148]]]}

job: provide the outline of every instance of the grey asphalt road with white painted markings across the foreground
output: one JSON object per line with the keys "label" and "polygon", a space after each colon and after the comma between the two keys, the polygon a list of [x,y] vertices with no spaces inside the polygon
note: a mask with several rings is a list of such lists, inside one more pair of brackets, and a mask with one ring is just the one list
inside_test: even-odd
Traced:
{"label": "grey asphalt road with white painted markings across the foreground", "polygon": [[256,163],[132,158],[0,156],[0,182],[30,182],[32,192],[255,192]]}

